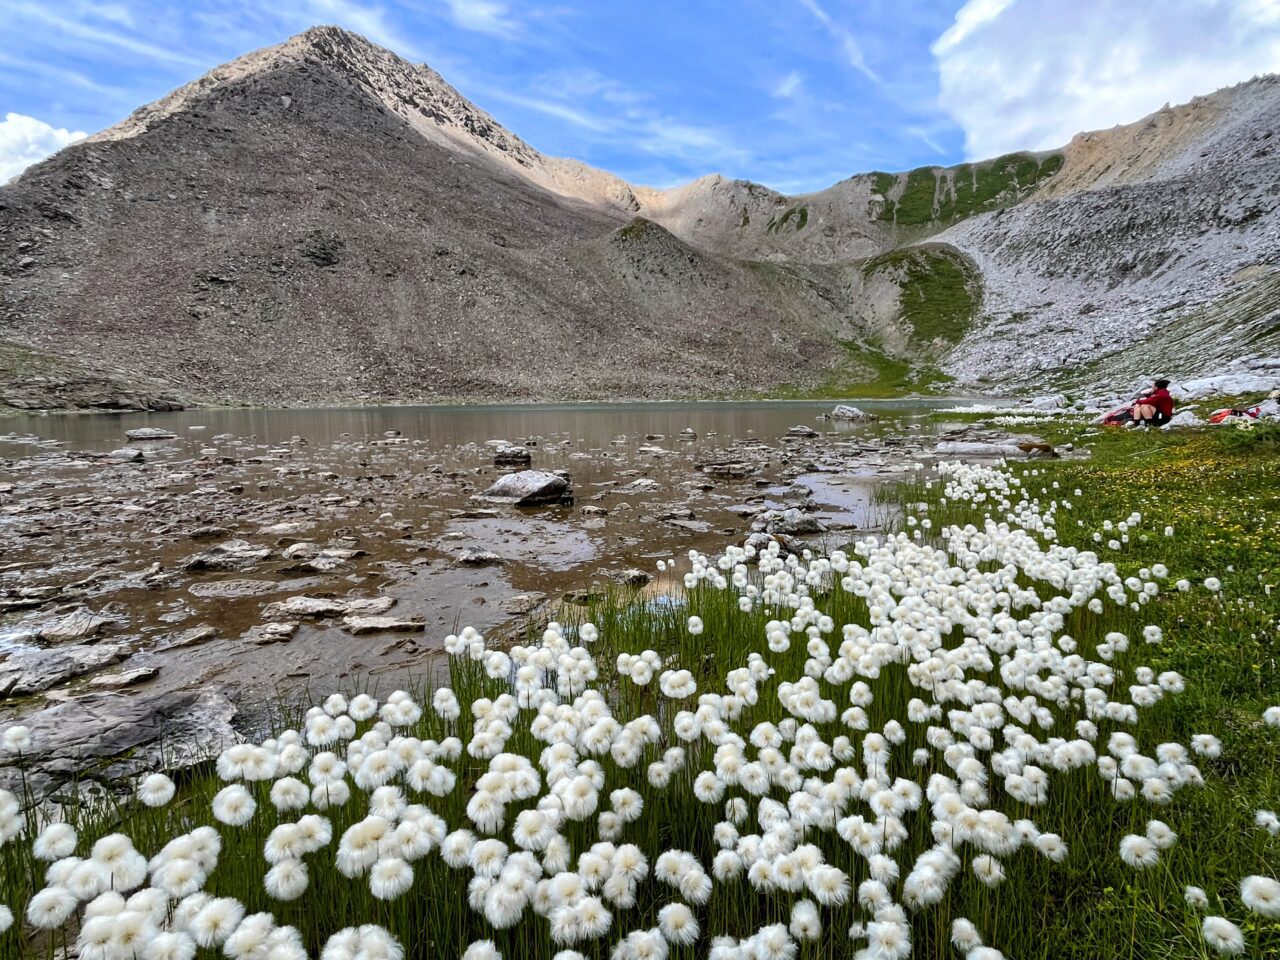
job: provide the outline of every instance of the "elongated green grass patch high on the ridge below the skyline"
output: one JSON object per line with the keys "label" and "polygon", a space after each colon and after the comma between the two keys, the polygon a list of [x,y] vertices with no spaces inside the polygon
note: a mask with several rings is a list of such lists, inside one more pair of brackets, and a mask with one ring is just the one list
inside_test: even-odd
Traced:
{"label": "elongated green grass patch high on the ridge below the skyline", "polygon": [[888,193],[897,177],[879,172],[872,177],[876,192],[886,198],[879,219],[899,227],[919,227],[955,223],[1016,204],[1061,166],[1061,154],[1043,160],[1032,154],[1006,154],[978,164],[918,166],[900,175],[905,183],[896,200],[890,200]]}

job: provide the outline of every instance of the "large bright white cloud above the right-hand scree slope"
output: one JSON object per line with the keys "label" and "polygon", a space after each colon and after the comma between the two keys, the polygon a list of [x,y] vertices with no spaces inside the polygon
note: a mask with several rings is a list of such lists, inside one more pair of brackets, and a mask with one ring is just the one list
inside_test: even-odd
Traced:
{"label": "large bright white cloud above the right-hand scree slope", "polygon": [[1276,0],[969,0],[933,44],[965,154],[1050,150],[1280,70]]}

